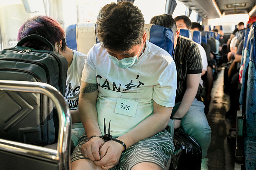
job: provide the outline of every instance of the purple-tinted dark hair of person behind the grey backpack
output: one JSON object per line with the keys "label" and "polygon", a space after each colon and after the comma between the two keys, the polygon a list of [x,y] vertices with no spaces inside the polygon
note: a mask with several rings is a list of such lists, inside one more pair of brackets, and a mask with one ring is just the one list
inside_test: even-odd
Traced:
{"label": "purple-tinted dark hair of person behind the grey backpack", "polygon": [[[49,16],[37,15],[28,19],[19,29],[18,41],[28,35],[37,34],[50,41],[53,46],[62,40],[61,51],[66,50],[65,31],[59,22]],[[34,49],[47,49],[47,45],[38,40],[30,40],[23,46]]]}

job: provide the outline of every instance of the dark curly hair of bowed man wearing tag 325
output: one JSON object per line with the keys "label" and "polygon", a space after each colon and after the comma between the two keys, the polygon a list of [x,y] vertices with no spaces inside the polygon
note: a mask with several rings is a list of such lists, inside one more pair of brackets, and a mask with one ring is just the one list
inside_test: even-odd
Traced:
{"label": "dark curly hair of bowed man wearing tag 325", "polygon": [[98,20],[97,37],[106,49],[130,50],[141,43],[143,33],[143,15],[129,2],[118,2],[114,8],[107,8]]}

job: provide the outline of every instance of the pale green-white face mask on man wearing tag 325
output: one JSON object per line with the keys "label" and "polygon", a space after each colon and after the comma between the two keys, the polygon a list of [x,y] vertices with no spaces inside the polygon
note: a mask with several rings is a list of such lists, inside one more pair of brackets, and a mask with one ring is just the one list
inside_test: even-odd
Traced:
{"label": "pale green-white face mask on man wearing tag 325", "polygon": [[[141,47],[141,44],[140,44],[140,47]],[[139,53],[140,53],[140,50],[139,50]],[[139,54],[139,53],[138,53],[138,54]],[[133,56],[133,57],[124,58],[124,59],[122,59],[122,60],[119,60],[119,59],[117,59],[116,57],[111,56],[111,55],[109,54],[109,59],[111,59],[112,62],[113,62],[115,65],[117,65],[119,68],[128,68],[128,67],[131,67],[135,62],[138,61],[138,59],[137,59],[138,54],[137,54],[136,56]]]}

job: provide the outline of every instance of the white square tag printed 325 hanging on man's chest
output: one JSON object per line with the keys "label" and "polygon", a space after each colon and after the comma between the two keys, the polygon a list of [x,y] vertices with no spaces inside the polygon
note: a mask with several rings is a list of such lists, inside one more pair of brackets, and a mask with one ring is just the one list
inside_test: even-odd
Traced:
{"label": "white square tag printed 325 hanging on man's chest", "polygon": [[119,114],[135,117],[137,106],[138,106],[138,102],[127,101],[125,99],[118,98],[115,112]]}

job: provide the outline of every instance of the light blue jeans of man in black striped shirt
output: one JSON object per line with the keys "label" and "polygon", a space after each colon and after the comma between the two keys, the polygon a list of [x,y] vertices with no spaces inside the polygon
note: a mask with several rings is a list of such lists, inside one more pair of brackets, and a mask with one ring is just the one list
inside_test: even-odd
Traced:
{"label": "light blue jeans of man in black striped shirt", "polygon": [[[181,102],[175,103],[172,116],[178,110]],[[211,127],[204,114],[203,102],[194,99],[187,113],[181,120],[181,127],[184,131],[193,136],[202,148],[202,159],[206,157],[207,150],[211,143]]]}

